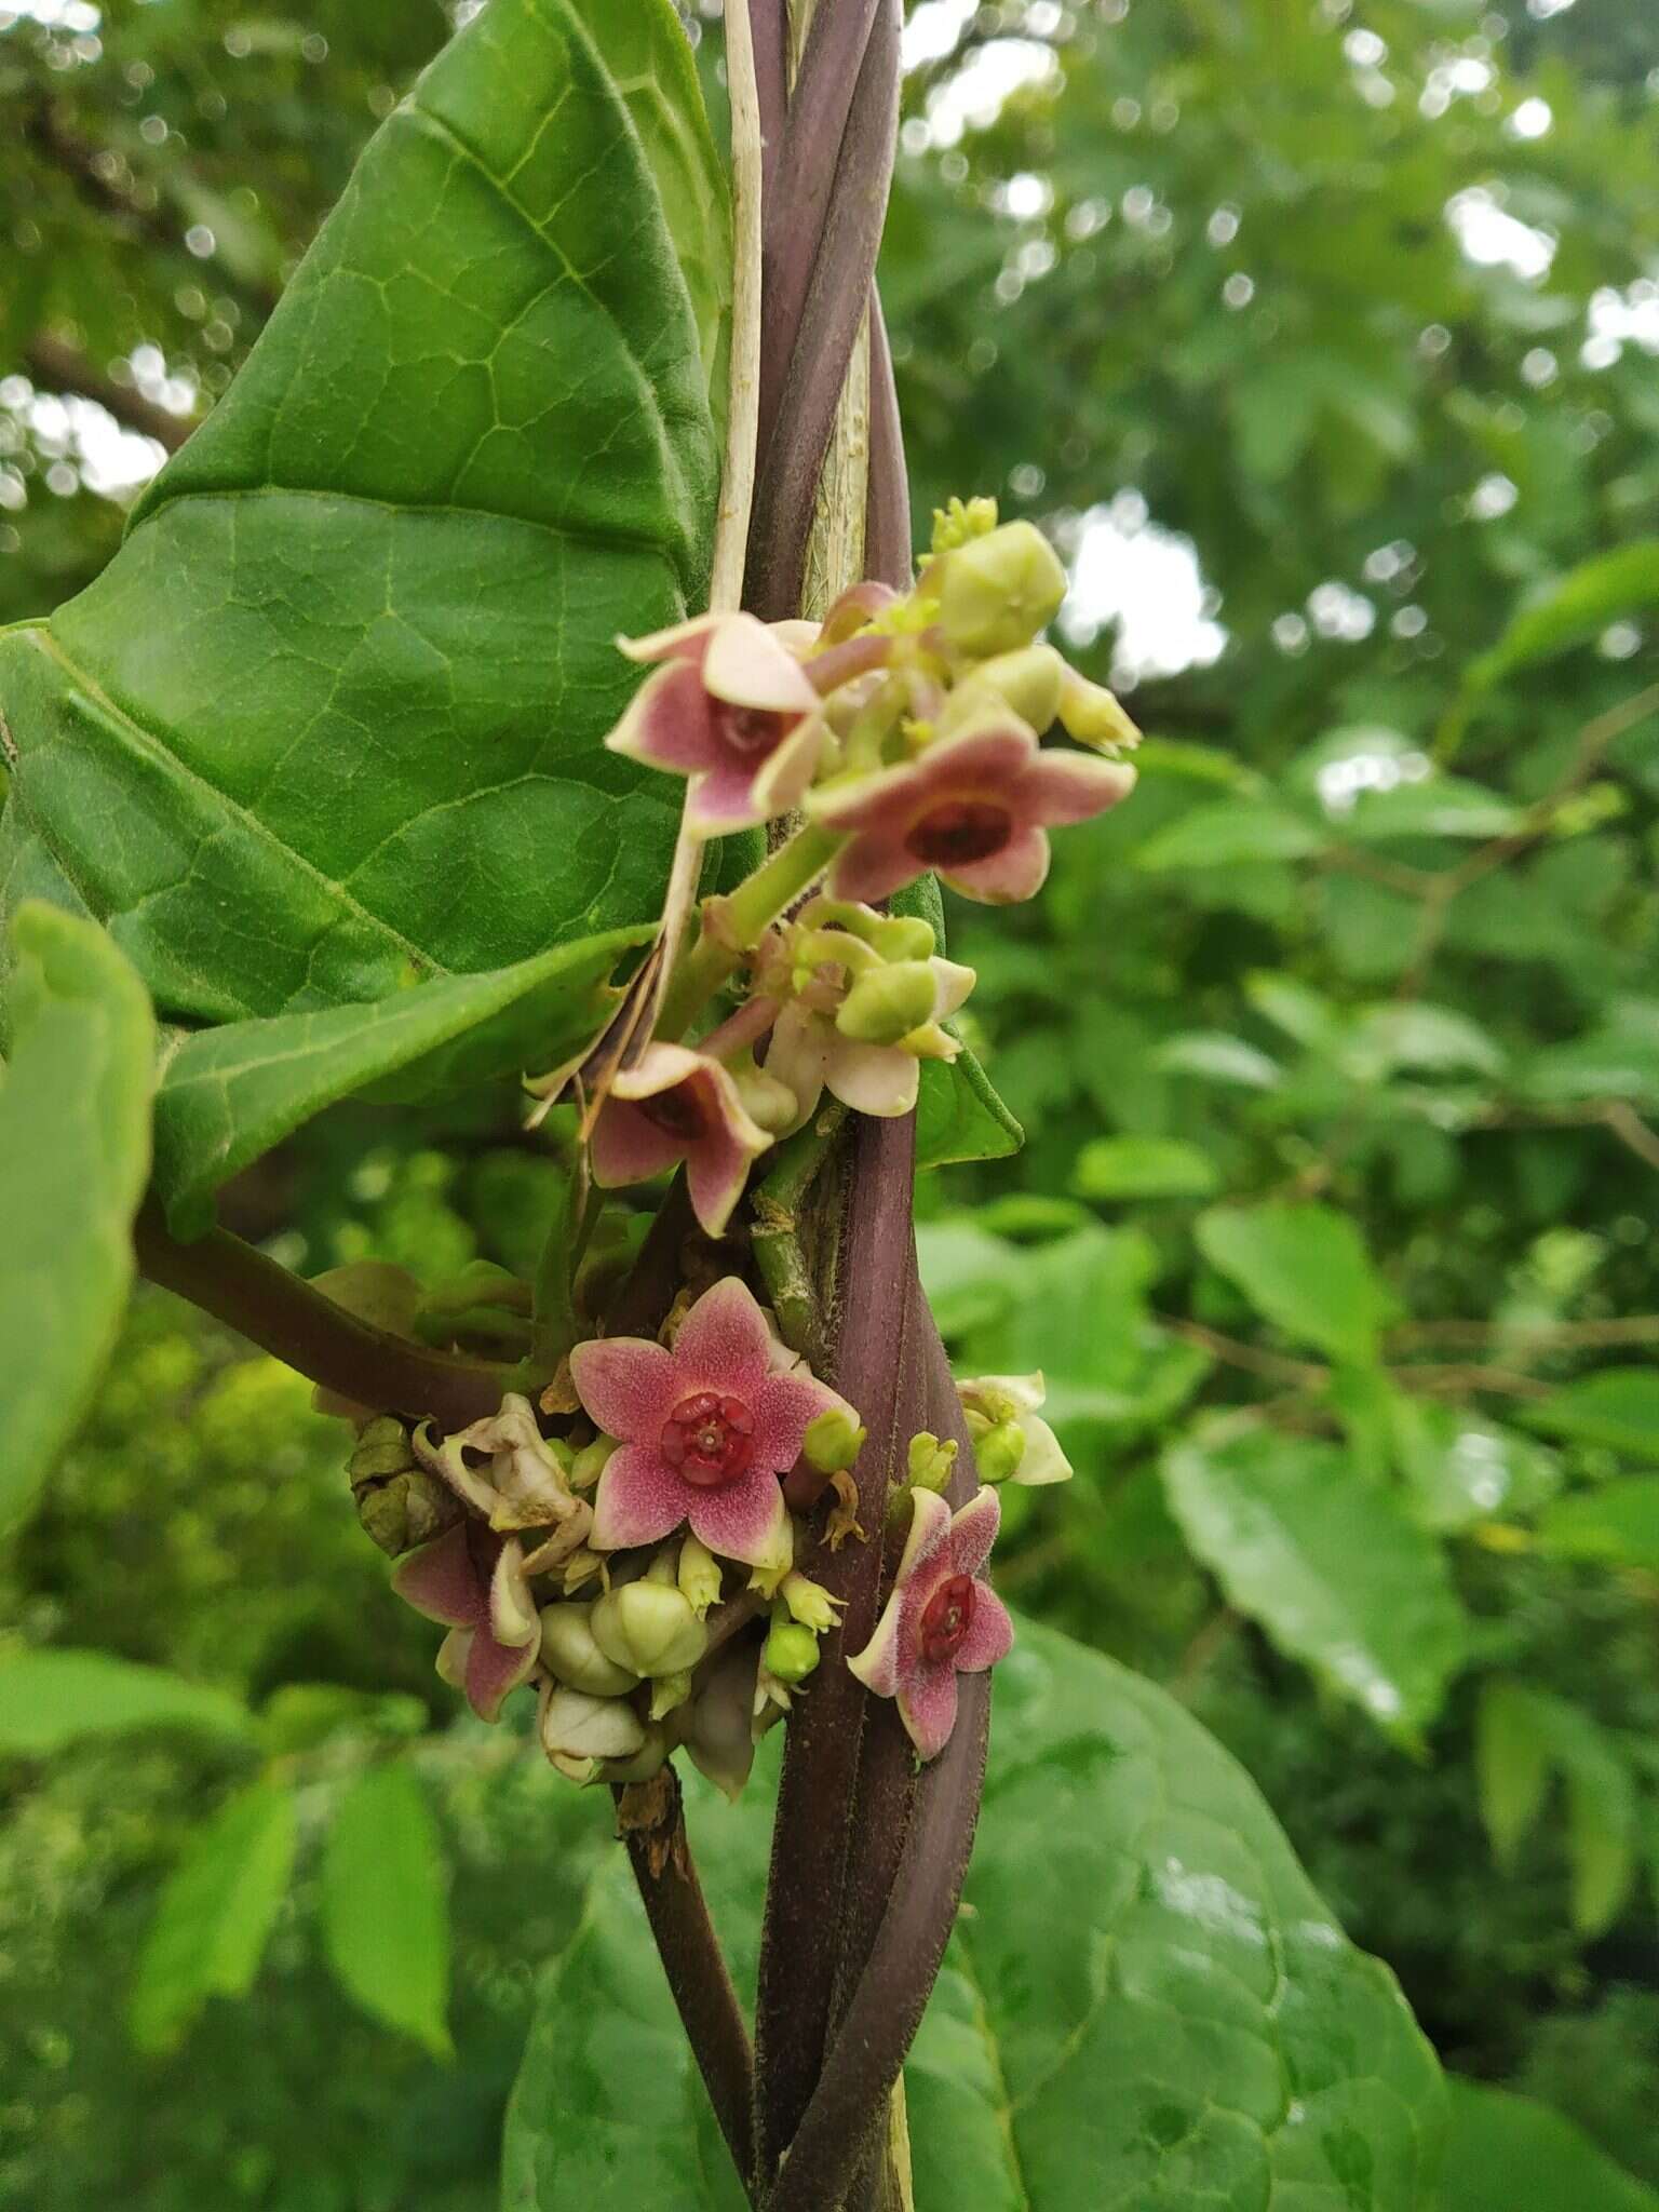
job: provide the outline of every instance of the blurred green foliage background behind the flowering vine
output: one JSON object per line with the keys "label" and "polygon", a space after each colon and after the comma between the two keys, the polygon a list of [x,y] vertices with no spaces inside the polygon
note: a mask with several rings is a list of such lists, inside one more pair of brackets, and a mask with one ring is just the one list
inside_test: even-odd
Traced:
{"label": "blurred green foliage background behind the flowering vine", "polygon": [[[173,440],[223,389],[445,29],[0,11],[0,619],[97,573],[159,456],[88,403]],[[1659,2185],[1659,20],[929,0],[911,42],[883,285],[918,507],[1042,520],[1148,730],[1037,905],[951,916],[1029,1144],[929,1181],[929,1285],[964,1371],[1046,1369],[1077,1462],[1004,1495],[1004,1588],[1190,1701],[1451,2066]],[[480,1097],[338,1108],[232,1208],[305,1272],[436,1283],[529,1272],[555,1199]],[[338,1436],[146,1296],[4,1562],[18,1641],[257,1734],[0,1767],[0,2203],[493,2203],[580,1896],[549,1863],[597,1843],[451,1721]],[[325,1971],[332,1814],[405,1763],[453,2068]],[[261,1776],[299,1858],[254,1995],[137,2059],[157,1898]]]}

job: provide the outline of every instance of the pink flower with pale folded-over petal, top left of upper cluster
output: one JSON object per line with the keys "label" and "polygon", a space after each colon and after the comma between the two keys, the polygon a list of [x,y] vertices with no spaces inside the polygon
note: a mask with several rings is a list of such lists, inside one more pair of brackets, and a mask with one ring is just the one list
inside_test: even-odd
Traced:
{"label": "pink flower with pale folded-over petal, top left of upper cluster", "polygon": [[779,628],[754,615],[699,615],[617,639],[630,659],[659,666],[606,745],[690,776],[688,821],[699,836],[787,814],[812,783],[823,743],[818,692],[790,650],[801,626]]}

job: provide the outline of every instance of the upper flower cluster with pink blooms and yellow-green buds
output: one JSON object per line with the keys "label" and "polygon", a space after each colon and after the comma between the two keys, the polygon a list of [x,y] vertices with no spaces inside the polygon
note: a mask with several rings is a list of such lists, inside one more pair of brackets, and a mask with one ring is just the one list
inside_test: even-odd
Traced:
{"label": "upper flower cluster with pink blooms and yellow-green buds", "polygon": [[[1135,726],[1040,641],[1064,588],[1029,522],[953,502],[907,595],[858,584],[821,626],[701,615],[624,641],[650,675],[606,743],[686,779],[686,834],[796,810],[805,827],[708,900],[675,1015],[604,1073],[602,1188],[684,1164],[701,1228],[721,1237],[754,1161],[825,1091],[854,1113],[905,1115],[920,1064],[956,1057],[947,1024],[973,971],[940,956],[927,920],[878,902],[929,872],[967,898],[1031,898],[1048,827],[1135,783],[1119,759]],[[1051,726],[1093,750],[1044,748]],[[686,1042],[723,987],[737,1009]],[[546,1102],[571,1073],[531,1088]]]}

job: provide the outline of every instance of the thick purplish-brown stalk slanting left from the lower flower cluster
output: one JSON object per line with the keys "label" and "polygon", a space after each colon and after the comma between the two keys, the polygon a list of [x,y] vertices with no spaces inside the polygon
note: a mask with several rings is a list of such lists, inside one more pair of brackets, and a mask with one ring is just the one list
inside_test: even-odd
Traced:
{"label": "thick purplish-brown stalk slanting left from the lower flower cluster", "polygon": [[502,1391],[533,1380],[520,1367],[431,1352],[376,1329],[230,1230],[208,1230],[195,1243],[179,1243],[168,1234],[155,1199],[139,1212],[135,1245],[139,1270],[153,1283],[190,1298],[261,1352],[354,1405],[465,1429],[495,1413]]}

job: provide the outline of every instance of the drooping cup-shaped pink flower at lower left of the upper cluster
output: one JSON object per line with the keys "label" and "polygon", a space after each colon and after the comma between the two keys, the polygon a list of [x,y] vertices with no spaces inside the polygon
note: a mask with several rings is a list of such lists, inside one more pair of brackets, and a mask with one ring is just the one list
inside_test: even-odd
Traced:
{"label": "drooping cup-shaped pink flower at lower left of the upper cluster", "polygon": [[593,1124],[593,1181],[617,1190],[684,1159],[692,1210],[721,1237],[750,1164],[770,1144],[719,1060],[686,1044],[648,1044],[639,1064],[615,1077]]}

